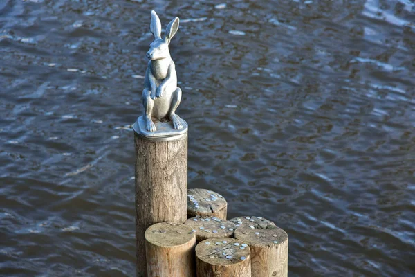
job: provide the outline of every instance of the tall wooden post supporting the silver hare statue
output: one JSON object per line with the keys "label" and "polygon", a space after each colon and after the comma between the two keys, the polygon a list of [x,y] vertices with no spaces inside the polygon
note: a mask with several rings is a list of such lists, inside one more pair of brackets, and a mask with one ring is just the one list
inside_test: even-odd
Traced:
{"label": "tall wooden post supporting the silver hare statue", "polygon": [[149,141],[134,132],[136,146],[136,276],[147,276],[145,230],[158,222],[187,219],[187,134]]}

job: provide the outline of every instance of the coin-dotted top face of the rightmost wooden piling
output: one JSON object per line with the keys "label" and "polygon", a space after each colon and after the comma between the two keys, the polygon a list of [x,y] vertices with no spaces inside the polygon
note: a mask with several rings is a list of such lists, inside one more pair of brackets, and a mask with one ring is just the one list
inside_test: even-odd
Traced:
{"label": "coin-dotted top face of the rightmost wooden piling", "polygon": [[288,234],[275,224],[267,225],[264,229],[261,226],[241,226],[235,230],[234,238],[243,240],[250,246],[268,248],[278,248],[280,244],[288,242]]}

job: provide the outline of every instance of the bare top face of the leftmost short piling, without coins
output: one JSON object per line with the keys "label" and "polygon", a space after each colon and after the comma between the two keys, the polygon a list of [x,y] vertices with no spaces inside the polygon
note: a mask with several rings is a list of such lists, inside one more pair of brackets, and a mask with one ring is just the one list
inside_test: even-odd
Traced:
{"label": "bare top face of the leftmost short piling, without coins", "polygon": [[161,222],[149,226],[145,239],[158,247],[177,247],[195,238],[191,226],[172,222]]}

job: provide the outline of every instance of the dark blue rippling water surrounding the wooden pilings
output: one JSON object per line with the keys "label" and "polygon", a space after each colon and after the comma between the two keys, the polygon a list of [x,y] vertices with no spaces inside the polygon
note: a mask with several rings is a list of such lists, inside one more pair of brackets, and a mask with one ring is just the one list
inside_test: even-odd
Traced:
{"label": "dark blue rippling water surrounding the wooden pilings", "polygon": [[290,276],[414,274],[414,1],[221,3],[0,1],[0,276],[133,276],[151,9],[189,187],[285,229]]}

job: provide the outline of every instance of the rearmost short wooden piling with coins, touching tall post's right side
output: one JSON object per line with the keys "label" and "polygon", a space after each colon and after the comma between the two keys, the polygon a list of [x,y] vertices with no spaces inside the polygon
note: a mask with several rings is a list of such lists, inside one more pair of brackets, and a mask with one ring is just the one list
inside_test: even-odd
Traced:
{"label": "rearmost short wooden piling with coins, touching tall post's right side", "polygon": [[212,216],[226,220],[228,203],[219,193],[203,188],[187,190],[187,217]]}

